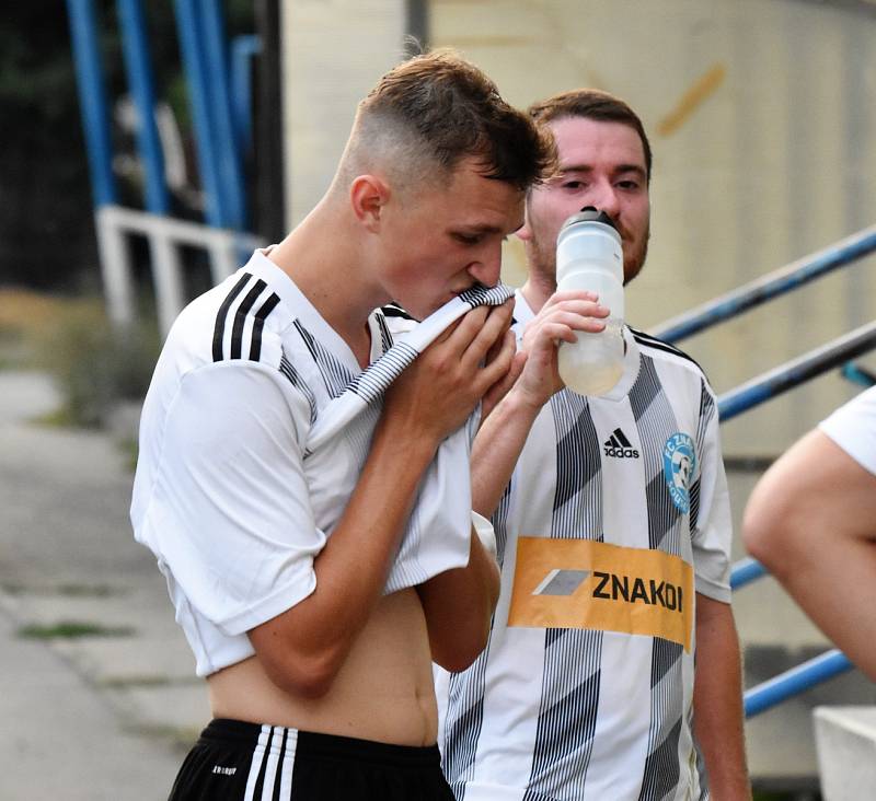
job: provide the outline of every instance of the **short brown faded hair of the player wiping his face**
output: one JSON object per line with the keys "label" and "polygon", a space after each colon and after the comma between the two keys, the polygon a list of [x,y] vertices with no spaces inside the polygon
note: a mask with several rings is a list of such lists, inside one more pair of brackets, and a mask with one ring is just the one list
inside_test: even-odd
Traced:
{"label": "short brown faded hair of the player wiping his face", "polygon": [[556,166],[552,137],[477,67],[442,48],[400,63],[359,104],[338,177],[378,167],[401,186],[446,184],[465,159],[523,190]]}

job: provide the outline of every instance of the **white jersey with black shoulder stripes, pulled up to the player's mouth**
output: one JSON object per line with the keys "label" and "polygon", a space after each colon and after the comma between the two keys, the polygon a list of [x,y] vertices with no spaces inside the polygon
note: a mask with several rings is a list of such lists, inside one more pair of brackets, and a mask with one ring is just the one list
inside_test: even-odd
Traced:
{"label": "white jersey with black shoulder stripes, pulled up to the player's mouth", "polygon": [[[380,311],[368,326],[373,363],[392,335]],[[168,579],[198,675],[252,655],[246,631],[313,592],[313,560],[356,486],[381,399],[369,396],[318,444],[312,432],[361,375],[264,252],[186,306],[168,335],[143,404],[131,521]],[[470,501],[453,539],[440,527],[447,504],[433,500],[412,514],[385,592],[466,564]]]}

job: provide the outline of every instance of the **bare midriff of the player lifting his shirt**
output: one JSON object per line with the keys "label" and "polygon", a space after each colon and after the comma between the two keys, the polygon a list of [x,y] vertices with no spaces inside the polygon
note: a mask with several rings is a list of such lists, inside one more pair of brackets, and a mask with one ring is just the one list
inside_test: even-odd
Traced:
{"label": "bare midriff of the player lifting his shirt", "polygon": [[397,745],[431,745],[437,738],[426,619],[412,589],[378,602],[321,698],[284,692],[267,677],[257,657],[214,673],[207,684],[215,718]]}

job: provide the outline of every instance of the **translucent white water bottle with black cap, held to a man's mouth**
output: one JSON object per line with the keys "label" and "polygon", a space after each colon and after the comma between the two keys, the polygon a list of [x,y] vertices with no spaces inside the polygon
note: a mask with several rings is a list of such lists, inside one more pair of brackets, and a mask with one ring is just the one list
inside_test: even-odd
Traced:
{"label": "translucent white water bottle with black cap, held to a man's mouth", "polygon": [[623,249],[611,218],[587,206],[563,223],[556,237],[556,288],[599,295],[610,314],[598,334],[575,332],[561,343],[560,378],[580,395],[604,395],[623,374]]}

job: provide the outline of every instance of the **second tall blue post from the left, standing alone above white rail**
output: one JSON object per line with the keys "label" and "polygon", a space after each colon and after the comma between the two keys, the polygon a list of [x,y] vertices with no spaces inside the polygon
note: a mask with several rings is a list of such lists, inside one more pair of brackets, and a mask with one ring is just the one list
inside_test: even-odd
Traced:
{"label": "second tall blue post from the left, standing alone above white rail", "polygon": [[117,0],[128,84],[137,107],[137,149],[146,177],[146,209],[153,214],[171,210],[164,183],[164,152],[155,125],[155,91],[141,0]]}

